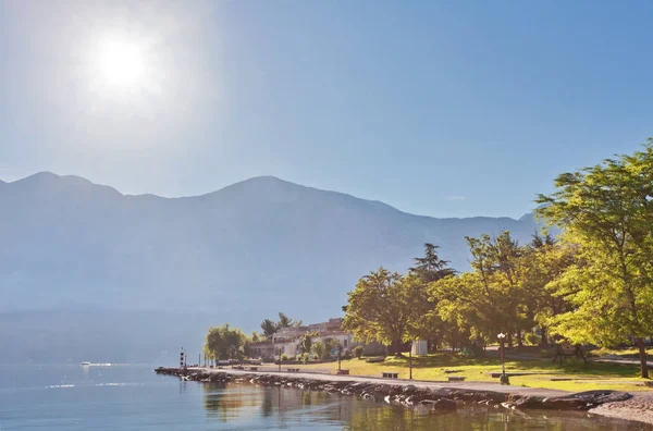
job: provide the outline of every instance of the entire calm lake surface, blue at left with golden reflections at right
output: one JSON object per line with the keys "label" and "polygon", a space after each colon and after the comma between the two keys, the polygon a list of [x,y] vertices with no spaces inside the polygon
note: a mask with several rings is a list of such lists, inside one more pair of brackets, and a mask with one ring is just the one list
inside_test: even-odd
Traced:
{"label": "entire calm lake surface, blue at left with golden reflections at right", "polygon": [[182,382],[151,369],[0,366],[0,430],[653,430],[586,414],[433,414],[323,392]]}

